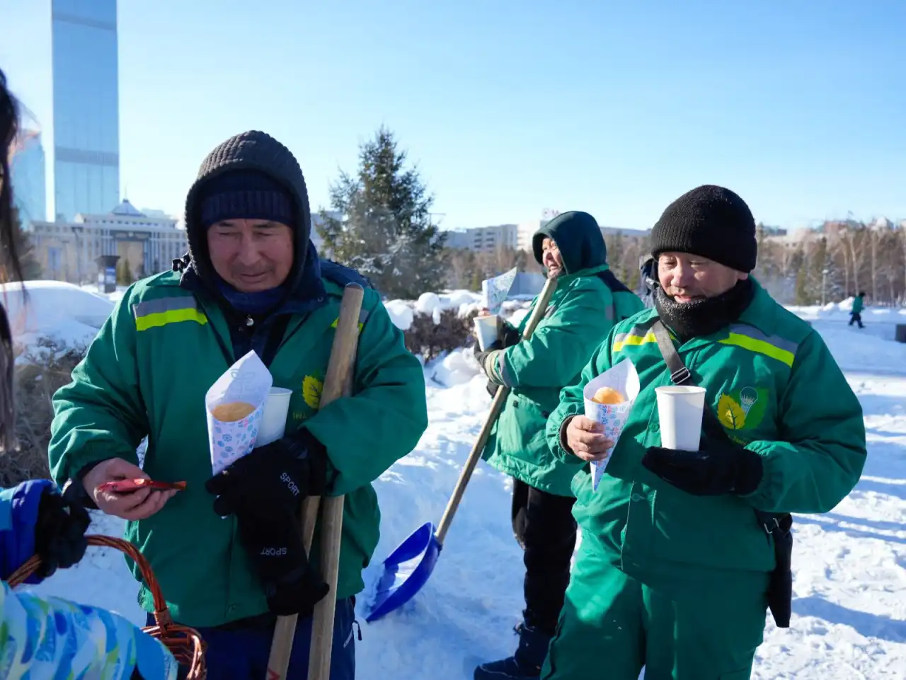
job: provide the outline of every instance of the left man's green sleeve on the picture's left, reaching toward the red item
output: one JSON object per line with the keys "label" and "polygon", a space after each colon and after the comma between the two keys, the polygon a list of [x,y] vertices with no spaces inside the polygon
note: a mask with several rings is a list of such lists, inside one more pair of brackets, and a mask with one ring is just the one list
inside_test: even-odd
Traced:
{"label": "left man's green sleeve on the picture's left, reaching toward the red item", "polygon": [[53,395],[47,452],[57,484],[108,458],[139,463],[136,448],[148,435],[149,423],[140,397],[131,293],[130,288],[104,321],[72,370],[72,382]]}

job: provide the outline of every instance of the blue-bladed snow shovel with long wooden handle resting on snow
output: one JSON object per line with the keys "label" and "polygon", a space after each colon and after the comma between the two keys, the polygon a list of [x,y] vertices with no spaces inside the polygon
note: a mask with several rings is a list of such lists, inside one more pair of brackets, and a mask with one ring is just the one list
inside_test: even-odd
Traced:
{"label": "blue-bladed snow shovel with long wooden handle resting on snow", "polygon": [[[538,302],[535,303],[535,309],[525,324],[524,340],[532,337],[535,326],[547,311],[547,303],[550,302],[556,287],[556,278],[547,279],[544,289],[538,296]],[[425,522],[384,560],[384,570],[375,587],[369,613],[365,617],[367,622],[371,623],[371,621],[386,616],[394,609],[400,608],[412,599],[428,581],[434,565],[437,564],[450,524],[453,522],[453,515],[458,510],[463,494],[466,493],[466,485],[485,450],[487,437],[491,434],[491,428],[496,423],[497,417],[503,411],[509,392],[510,388],[504,386],[497,388],[485,425],[482,426],[475,445],[472,446],[472,452],[468,455],[466,465],[459,474],[456,488],[447,503],[443,517],[440,518],[439,525],[435,527],[432,522]]]}

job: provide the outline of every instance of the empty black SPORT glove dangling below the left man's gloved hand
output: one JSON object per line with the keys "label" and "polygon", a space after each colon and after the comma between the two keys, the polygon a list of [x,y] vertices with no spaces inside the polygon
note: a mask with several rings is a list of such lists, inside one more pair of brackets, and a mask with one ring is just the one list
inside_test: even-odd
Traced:
{"label": "empty black SPORT glove dangling below the left man's gloved hand", "polygon": [[254,506],[236,510],[239,537],[265,587],[267,607],[279,617],[312,616],[330,587],[313,570],[302,542],[298,512],[279,516]]}

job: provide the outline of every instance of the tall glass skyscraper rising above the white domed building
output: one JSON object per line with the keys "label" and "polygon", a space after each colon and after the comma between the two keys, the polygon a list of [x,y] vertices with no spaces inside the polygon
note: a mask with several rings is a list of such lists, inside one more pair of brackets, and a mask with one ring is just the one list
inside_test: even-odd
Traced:
{"label": "tall glass skyscraper rising above the white domed building", "polygon": [[51,0],[53,212],[72,220],[120,203],[116,0]]}

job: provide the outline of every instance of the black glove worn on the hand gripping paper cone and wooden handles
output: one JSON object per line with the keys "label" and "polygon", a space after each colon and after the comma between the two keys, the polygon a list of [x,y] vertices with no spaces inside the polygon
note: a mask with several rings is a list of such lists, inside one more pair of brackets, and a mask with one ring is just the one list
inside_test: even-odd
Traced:
{"label": "black glove worn on the hand gripping paper cone and wooden handles", "polygon": [[217,496],[214,512],[221,517],[239,507],[286,517],[298,512],[306,497],[323,495],[326,485],[326,449],[302,429],[239,458],[205,488]]}

